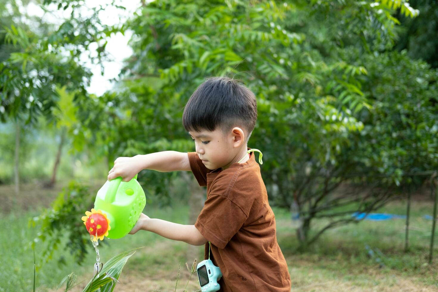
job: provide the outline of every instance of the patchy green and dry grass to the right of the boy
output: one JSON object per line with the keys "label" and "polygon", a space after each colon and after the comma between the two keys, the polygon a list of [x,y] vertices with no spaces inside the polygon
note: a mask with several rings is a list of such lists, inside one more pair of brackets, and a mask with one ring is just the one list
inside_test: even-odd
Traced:
{"label": "patchy green and dry grass to the right of the boy", "polygon": [[[406,202],[392,202],[379,212],[403,215]],[[291,222],[286,212],[277,211],[279,244],[291,268],[294,291],[438,290],[437,244],[435,259],[427,264],[432,222],[423,215],[431,213],[430,201],[412,202],[408,253],[404,253],[404,219],[330,229],[306,252],[294,253],[297,240]],[[327,222],[318,220],[314,226]]]}

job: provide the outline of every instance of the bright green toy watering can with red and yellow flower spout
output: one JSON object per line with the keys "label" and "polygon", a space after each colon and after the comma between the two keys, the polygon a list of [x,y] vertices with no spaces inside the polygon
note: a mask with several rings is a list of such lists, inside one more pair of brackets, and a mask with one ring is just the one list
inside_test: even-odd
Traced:
{"label": "bright green toy watering can with red and yellow flower spout", "polygon": [[106,183],[97,192],[94,208],[82,217],[93,241],[104,236],[117,239],[127,235],[145,208],[145,192],[136,174],[129,182],[119,176]]}

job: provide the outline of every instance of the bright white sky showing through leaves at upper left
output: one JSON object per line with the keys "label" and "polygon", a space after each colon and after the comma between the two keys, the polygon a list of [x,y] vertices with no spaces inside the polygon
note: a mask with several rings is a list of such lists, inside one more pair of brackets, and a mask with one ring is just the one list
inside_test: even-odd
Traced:
{"label": "bright white sky showing through leaves at upper left", "polygon": [[[105,5],[111,3],[111,0],[85,0],[85,5],[81,9],[81,14],[87,14],[92,7],[98,5]],[[149,1],[147,1],[149,2]],[[115,7],[110,7],[99,14],[99,18],[102,24],[115,25],[117,23],[123,23],[128,17],[130,17],[133,12],[140,7],[140,0],[129,0],[121,1],[116,0],[117,5],[126,7],[126,10],[117,9]],[[44,17],[44,20],[48,23],[53,23],[55,25],[60,25],[64,18],[68,18],[71,14],[71,9],[67,10],[57,10],[55,4],[51,4],[48,7],[49,11],[53,11],[53,14],[44,14],[42,8],[33,2],[30,2],[27,7],[23,8],[23,12],[28,15],[34,15],[38,17]],[[109,53],[111,61],[103,62],[104,75],[101,75],[100,65],[91,63],[89,57],[85,54],[81,56],[81,62],[85,63],[85,66],[90,68],[92,71],[92,78],[90,86],[87,88],[89,93],[94,93],[96,95],[102,95],[105,91],[113,88],[113,84],[109,81],[112,78],[116,78],[120,73],[120,69],[123,66],[123,60],[131,56],[132,50],[128,46],[128,41],[131,38],[132,32],[127,31],[124,35],[120,32],[117,34],[112,34],[108,38],[108,44],[106,45],[106,50]],[[90,46],[90,52],[95,53],[97,44]],[[95,54],[95,56],[97,53]]]}

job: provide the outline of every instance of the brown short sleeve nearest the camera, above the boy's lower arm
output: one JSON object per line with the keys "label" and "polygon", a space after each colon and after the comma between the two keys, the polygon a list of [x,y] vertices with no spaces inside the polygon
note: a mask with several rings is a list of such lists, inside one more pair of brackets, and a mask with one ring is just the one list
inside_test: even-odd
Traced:
{"label": "brown short sleeve nearest the camera, above the boy's lower arm", "polygon": [[205,239],[223,249],[247,218],[228,197],[210,193],[194,226]]}

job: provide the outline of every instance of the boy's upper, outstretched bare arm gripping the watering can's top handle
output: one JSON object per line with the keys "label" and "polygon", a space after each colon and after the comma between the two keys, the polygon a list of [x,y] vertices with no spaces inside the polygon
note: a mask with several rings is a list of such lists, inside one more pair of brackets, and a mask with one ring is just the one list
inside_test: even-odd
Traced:
{"label": "boy's upper, outstretched bare arm gripping the watering can's top handle", "polygon": [[108,180],[121,176],[124,182],[128,182],[143,169],[159,172],[191,171],[187,152],[161,151],[117,158],[114,161],[114,167],[109,171]]}

